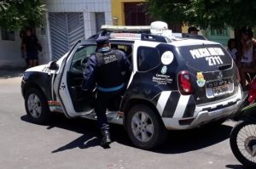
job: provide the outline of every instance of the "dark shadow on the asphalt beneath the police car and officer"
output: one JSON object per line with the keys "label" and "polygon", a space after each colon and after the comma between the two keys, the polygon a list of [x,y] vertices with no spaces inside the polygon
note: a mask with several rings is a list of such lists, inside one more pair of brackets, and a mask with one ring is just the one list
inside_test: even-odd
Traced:
{"label": "dark shadow on the asphalt beneath the police car and officer", "polygon": [[[101,135],[97,129],[96,121],[82,118],[70,120],[61,114],[56,114],[53,118],[54,121],[49,122],[49,124],[46,125],[46,129],[50,130],[51,128],[59,127],[83,135],[53,150],[52,153],[74,148],[87,149],[100,145]],[[27,115],[21,116],[21,120],[30,122]],[[189,131],[172,131],[169,133],[166,144],[161,145],[159,148],[151,149],[150,151],[160,154],[179,154],[196,149],[203,149],[229,138],[231,129],[232,127],[230,126],[221,125],[218,127],[197,128]],[[111,135],[113,142],[134,147],[124,127],[111,125]],[[236,169],[236,167],[234,167],[234,169]]]}

